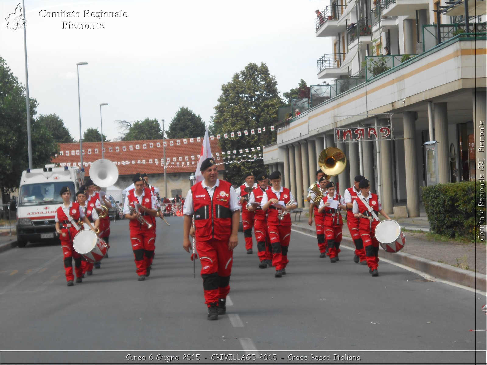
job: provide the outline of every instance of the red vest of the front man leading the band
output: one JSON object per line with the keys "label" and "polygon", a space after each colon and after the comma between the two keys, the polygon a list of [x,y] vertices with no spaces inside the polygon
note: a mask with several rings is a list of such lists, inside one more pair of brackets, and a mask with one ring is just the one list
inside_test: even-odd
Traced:
{"label": "red vest of the front man leading the band", "polygon": [[215,186],[213,198],[203,188],[203,182],[191,187],[193,198],[194,226],[196,240],[215,238],[228,240],[232,233],[232,211],[230,210],[230,183],[220,180]]}

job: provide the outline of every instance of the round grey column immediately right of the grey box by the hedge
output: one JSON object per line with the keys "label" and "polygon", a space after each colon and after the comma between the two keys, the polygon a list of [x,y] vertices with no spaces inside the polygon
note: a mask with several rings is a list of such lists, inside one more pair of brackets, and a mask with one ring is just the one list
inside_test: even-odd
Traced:
{"label": "round grey column immediately right of the grey box by the hedge", "polygon": [[438,183],[450,183],[447,103],[434,103],[434,138],[438,142]]}

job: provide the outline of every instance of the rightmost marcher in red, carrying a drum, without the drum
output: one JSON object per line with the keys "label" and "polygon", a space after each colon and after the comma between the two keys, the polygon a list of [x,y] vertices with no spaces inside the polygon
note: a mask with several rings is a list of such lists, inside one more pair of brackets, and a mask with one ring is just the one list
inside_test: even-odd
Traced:
{"label": "rightmost marcher in red, carrying a drum, without the drum", "polygon": [[379,266],[379,241],[375,238],[375,227],[379,224],[379,221],[374,219],[372,212],[369,212],[369,209],[361,198],[373,209],[376,216],[380,213],[385,219],[390,218],[382,209],[379,197],[370,192],[370,182],[367,179],[362,179],[358,187],[360,188],[361,197],[354,201],[352,209],[355,217],[359,219],[358,233],[365,247],[365,258],[369,266],[369,273],[372,276],[379,276],[379,272],[377,271]]}

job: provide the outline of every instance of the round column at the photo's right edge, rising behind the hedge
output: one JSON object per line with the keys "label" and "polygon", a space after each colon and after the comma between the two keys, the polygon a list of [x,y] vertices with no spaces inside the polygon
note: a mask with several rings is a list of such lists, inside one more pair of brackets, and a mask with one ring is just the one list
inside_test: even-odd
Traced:
{"label": "round column at the photo's right edge, rising behind the hedge", "polygon": [[[486,179],[486,91],[473,91],[473,135],[475,146],[475,180],[483,181],[485,186]],[[483,142],[483,143],[481,143]],[[484,201],[483,208],[486,203]],[[481,206],[479,205],[479,208]],[[485,212],[485,210],[484,210]],[[485,223],[485,219],[484,219]]]}

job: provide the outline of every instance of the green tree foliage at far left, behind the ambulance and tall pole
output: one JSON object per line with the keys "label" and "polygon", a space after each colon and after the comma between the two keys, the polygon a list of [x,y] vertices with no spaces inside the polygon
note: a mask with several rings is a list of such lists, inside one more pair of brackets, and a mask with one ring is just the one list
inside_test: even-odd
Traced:
{"label": "green tree foliage at far left, behind the ambulance and tall pole", "polygon": [[[31,116],[36,115],[37,101],[30,99]],[[27,113],[25,88],[0,57],[0,189],[4,194],[19,187],[20,175],[28,167]],[[51,131],[32,118],[33,167],[51,162],[58,151]]]}

